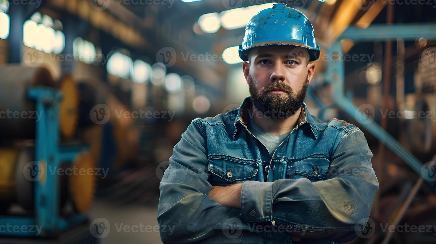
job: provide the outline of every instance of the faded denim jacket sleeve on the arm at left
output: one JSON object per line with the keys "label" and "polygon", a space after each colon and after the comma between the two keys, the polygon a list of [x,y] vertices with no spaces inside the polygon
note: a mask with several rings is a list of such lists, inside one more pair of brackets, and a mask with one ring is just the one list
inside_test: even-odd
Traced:
{"label": "faded denim jacket sleeve on the arm at left", "polygon": [[234,210],[207,196],[212,189],[206,173],[207,155],[205,132],[199,119],[194,119],[174,147],[160,181],[157,220],[164,243],[208,238],[214,234],[214,227]]}

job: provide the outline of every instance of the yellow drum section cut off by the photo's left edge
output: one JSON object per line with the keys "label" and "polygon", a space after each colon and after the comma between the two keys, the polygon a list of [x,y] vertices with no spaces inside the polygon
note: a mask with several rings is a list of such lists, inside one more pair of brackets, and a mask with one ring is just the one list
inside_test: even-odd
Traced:
{"label": "yellow drum section cut off by the photo's left edge", "polygon": [[0,148],[0,200],[6,201],[15,193],[15,165],[18,149]]}

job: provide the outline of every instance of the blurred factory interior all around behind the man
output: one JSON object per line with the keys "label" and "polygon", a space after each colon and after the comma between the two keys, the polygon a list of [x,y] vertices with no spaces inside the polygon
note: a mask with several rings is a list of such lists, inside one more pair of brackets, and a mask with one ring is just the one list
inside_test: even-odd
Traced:
{"label": "blurred factory interior all around behind the man", "polygon": [[161,243],[173,147],[249,95],[238,45],[274,2],[321,47],[310,113],[374,154],[352,243],[436,243],[433,0],[0,0],[0,243]]}

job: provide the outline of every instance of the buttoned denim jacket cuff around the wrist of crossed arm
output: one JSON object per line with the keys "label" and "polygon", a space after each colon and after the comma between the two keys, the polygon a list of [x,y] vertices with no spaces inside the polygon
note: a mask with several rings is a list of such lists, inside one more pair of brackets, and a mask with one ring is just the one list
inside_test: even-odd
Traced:
{"label": "buttoned denim jacket cuff around the wrist of crossed arm", "polygon": [[241,214],[248,222],[269,221],[272,214],[272,184],[246,181],[241,190]]}

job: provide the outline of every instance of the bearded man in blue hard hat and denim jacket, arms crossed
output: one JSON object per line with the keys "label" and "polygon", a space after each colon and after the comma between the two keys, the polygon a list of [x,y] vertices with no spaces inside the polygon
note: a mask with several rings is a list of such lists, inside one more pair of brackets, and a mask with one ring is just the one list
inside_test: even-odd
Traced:
{"label": "bearded man in blue hard hat and denim jacket, arms crossed", "polygon": [[363,133],[303,103],[319,46],[300,11],[255,15],[239,55],[250,97],[194,119],[160,183],[165,243],[332,243],[357,237],[378,181]]}

